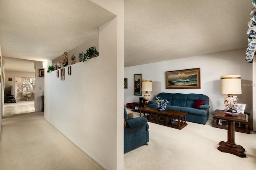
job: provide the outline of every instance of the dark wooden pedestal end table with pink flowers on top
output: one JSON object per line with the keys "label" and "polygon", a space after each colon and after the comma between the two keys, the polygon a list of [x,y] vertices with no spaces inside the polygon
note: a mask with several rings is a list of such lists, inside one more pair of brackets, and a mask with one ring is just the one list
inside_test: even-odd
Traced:
{"label": "dark wooden pedestal end table with pink flowers on top", "polygon": [[239,113],[239,115],[232,116],[226,115],[224,111],[219,111],[213,116],[213,118],[228,121],[228,141],[221,141],[219,143],[220,146],[218,147],[218,150],[234,154],[239,157],[246,157],[246,154],[244,154],[245,149],[241,145],[236,145],[235,143],[235,121],[248,123],[248,115]]}

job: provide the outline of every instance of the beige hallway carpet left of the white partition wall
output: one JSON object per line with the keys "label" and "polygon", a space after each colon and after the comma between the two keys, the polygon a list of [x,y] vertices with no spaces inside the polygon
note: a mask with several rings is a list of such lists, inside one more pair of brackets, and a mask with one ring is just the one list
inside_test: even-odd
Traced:
{"label": "beige hallway carpet left of the white partition wall", "polygon": [[0,170],[102,170],[52,125],[43,112],[2,120]]}

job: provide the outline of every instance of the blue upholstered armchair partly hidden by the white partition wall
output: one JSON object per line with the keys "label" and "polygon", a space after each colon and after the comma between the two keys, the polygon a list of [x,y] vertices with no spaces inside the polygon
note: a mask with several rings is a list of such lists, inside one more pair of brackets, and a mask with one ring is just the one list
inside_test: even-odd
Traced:
{"label": "blue upholstered armchair partly hidden by the white partition wall", "polygon": [[128,119],[124,108],[124,152],[147,145],[149,141],[148,120],[145,117]]}

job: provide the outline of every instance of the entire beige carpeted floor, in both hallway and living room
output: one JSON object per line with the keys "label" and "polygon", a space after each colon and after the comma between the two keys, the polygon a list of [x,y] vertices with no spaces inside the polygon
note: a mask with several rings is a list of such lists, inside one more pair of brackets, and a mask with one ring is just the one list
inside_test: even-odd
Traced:
{"label": "entire beige carpeted floor, in both hallway and living room", "polygon": [[[128,111],[129,113],[129,111]],[[134,113],[138,117],[138,113]],[[246,158],[220,152],[227,131],[187,122],[182,130],[149,124],[149,142],[124,154],[124,170],[253,170],[256,132],[235,132]],[[100,170],[96,162],[44,120],[42,112],[7,115],[0,138],[1,170]]]}

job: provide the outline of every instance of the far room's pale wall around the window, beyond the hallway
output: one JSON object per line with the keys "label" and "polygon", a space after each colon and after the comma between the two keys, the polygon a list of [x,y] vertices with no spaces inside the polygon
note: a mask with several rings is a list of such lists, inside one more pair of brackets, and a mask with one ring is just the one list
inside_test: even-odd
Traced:
{"label": "far room's pale wall around the window, beyond the hallway", "polygon": [[[12,94],[14,95],[16,101],[21,101],[21,100],[26,100],[26,97],[22,97],[21,92],[17,92],[17,83],[16,83],[16,77],[31,77],[35,78],[35,72],[22,72],[22,71],[5,71],[5,81],[4,81],[4,86],[5,86],[5,91],[4,95],[8,93],[8,90],[10,86],[12,86]],[[9,81],[8,78],[12,78],[12,81]]]}

